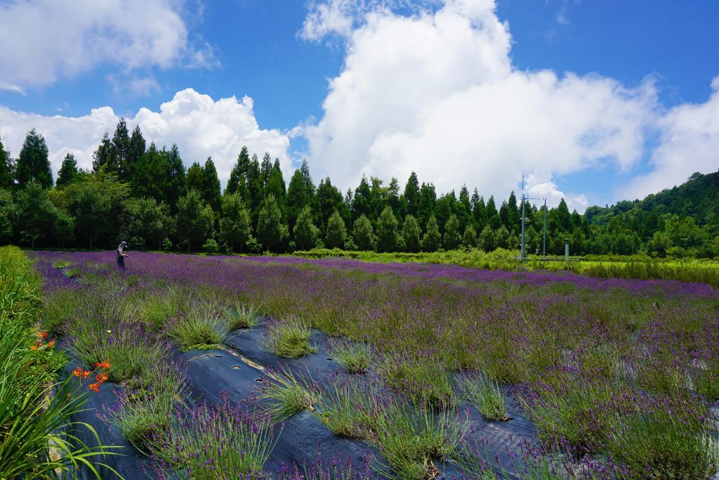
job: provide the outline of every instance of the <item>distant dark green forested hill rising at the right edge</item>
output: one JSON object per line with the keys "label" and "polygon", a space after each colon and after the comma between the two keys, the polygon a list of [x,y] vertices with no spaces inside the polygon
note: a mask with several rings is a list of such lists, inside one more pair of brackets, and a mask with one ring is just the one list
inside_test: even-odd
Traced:
{"label": "distant dark green forested hill rising at the right edge", "polygon": [[692,217],[698,225],[719,230],[719,171],[694,173],[689,179],[672,189],[646,196],[644,200],[620,201],[611,207],[589,207],[585,218],[590,225],[606,225],[612,217],[634,210],[635,213],[676,214]]}

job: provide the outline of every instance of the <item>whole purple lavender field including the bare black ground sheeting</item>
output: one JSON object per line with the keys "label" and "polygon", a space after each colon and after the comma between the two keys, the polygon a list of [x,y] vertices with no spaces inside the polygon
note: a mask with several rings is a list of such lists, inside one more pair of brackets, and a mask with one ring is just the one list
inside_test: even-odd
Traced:
{"label": "whole purple lavender field including the bare black ground sheeting", "polygon": [[719,294],[705,284],[32,258],[69,368],[109,362],[82,420],[124,445],[105,463],[125,478],[710,479],[718,467]]}

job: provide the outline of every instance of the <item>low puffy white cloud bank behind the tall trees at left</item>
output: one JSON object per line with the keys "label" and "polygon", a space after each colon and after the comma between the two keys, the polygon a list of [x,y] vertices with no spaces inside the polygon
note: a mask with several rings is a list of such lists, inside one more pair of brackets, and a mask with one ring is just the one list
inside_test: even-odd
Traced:
{"label": "low puffy white cloud bank behind the tall trees at left", "polygon": [[[49,117],[0,107],[0,139],[17,157],[27,131],[36,128],[45,136],[55,173],[66,153],[73,153],[79,166],[91,168],[102,135],[106,131],[112,135],[118,121],[110,107],[92,109],[83,117]],[[269,152],[272,158],[279,158],[285,176],[293,170],[287,154],[289,137],[279,130],[261,129],[248,96],[214,101],[186,89],[160,105],[159,112],[142,108],[127,122],[130,129],[139,124],[148,145],[154,141],[158,148],[169,148],[177,143],[185,166],[193,161],[203,163],[211,156],[223,184],[243,145],[260,157]]]}

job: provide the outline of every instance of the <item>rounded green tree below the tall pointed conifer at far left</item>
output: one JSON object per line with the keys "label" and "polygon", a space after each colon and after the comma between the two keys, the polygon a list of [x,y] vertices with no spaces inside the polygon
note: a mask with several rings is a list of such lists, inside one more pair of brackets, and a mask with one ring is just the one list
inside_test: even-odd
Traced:
{"label": "rounded green tree below the tall pointed conifer at far left", "polygon": [[55,223],[57,210],[47,198],[47,192],[40,182],[30,179],[17,193],[17,226],[22,240],[35,248],[35,242],[49,232],[48,226]]}

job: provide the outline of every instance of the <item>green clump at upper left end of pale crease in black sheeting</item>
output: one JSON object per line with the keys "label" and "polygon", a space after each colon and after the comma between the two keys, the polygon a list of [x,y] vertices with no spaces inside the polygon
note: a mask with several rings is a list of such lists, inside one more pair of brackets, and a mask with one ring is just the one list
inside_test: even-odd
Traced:
{"label": "green clump at upper left end of pale crease in black sheeting", "polygon": [[229,329],[223,310],[216,303],[199,303],[168,325],[168,334],[183,349],[209,348],[224,341]]}

